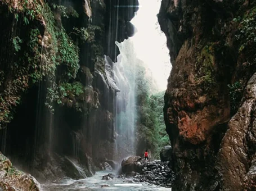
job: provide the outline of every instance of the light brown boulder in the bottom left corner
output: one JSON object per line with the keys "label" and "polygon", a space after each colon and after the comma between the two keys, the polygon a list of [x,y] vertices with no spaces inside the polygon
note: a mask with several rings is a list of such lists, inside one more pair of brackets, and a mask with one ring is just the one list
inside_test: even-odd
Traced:
{"label": "light brown boulder in the bottom left corner", "polygon": [[33,176],[17,170],[0,152],[0,190],[39,191],[39,188],[40,185]]}

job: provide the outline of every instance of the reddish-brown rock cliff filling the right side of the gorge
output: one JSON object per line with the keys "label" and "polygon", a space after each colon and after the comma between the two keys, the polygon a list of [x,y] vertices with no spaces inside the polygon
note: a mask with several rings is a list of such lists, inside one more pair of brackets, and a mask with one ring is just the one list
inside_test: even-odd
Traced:
{"label": "reddish-brown rock cliff filling the right side of the gorge", "polygon": [[255,15],[254,1],[162,1],[173,190],[254,189]]}

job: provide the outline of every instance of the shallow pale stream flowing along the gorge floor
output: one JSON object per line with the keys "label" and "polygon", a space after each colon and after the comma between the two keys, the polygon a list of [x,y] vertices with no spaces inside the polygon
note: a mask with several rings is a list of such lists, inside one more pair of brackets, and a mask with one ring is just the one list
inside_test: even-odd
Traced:
{"label": "shallow pale stream flowing along the gorge floor", "polygon": [[[111,171],[98,171],[90,178],[81,180],[65,180],[60,184],[42,185],[43,191],[71,191],[71,190],[120,190],[120,191],[150,191],[150,190],[172,190],[170,188],[159,187],[156,185],[150,185],[148,183],[129,183],[131,179],[119,179],[102,180],[102,176],[109,173],[115,173]],[[119,185],[116,185],[119,184]],[[120,185],[121,184],[121,185]],[[141,184],[141,185],[122,185],[122,184]],[[107,185],[107,187],[102,187]]]}

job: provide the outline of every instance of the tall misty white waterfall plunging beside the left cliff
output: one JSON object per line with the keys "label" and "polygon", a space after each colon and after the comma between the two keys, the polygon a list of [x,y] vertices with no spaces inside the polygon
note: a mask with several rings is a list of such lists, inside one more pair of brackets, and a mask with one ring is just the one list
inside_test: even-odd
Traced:
{"label": "tall misty white waterfall plunging beside the left cliff", "polygon": [[113,63],[116,85],[120,92],[116,93],[115,130],[116,151],[115,160],[134,155],[135,153],[135,122],[136,122],[136,65],[138,63],[131,40],[117,43],[120,54]]}

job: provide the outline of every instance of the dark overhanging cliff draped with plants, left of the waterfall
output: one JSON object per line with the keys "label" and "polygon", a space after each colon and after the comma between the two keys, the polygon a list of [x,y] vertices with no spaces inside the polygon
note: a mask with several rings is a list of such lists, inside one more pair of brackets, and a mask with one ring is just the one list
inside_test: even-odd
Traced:
{"label": "dark overhanging cliff draped with plants, left of the waterfall", "polygon": [[133,35],[137,8],[119,7],[137,4],[0,2],[0,148],[12,162],[46,180],[79,178],[74,163],[92,175],[113,157],[117,90],[104,54],[115,60],[115,40]]}

